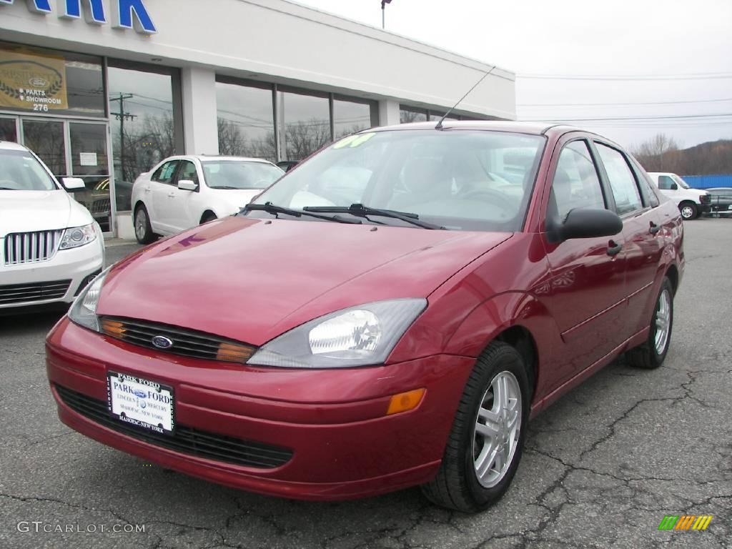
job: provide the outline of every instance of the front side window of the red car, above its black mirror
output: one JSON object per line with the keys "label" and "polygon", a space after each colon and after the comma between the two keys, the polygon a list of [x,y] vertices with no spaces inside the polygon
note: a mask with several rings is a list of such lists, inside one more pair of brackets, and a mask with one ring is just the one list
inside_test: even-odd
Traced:
{"label": "front side window of the red car, above its black mirror", "polygon": [[551,187],[550,208],[556,208],[561,220],[575,208],[605,208],[600,178],[586,141],[572,141],[561,150]]}

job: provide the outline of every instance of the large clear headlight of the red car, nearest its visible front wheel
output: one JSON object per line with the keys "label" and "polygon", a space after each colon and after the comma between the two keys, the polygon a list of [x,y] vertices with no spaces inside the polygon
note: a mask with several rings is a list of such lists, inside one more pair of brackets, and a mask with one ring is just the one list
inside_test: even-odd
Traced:
{"label": "large clear headlight of the red car, nearest its visible front wheel", "polygon": [[381,364],[427,299],[391,299],[349,307],[297,326],[259,348],[250,365],[343,368]]}

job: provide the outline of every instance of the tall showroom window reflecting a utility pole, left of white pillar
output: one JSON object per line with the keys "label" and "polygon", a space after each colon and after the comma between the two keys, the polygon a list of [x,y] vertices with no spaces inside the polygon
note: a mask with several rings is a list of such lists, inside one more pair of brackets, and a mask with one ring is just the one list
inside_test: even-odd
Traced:
{"label": "tall showroom window reflecting a utility pole, left of white pillar", "polygon": [[176,70],[109,61],[108,96],[118,211],[131,209],[137,177],[182,152]]}

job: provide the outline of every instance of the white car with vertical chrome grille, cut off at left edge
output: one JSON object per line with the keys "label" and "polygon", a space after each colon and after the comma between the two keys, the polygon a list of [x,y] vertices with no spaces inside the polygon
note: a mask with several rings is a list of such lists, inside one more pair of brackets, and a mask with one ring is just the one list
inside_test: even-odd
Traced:
{"label": "white car with vertical chrome grille, cut off at left edge", "polygon": [[102,230],[89,210],[29,149],[0,141],[0,313],[69,304],[103,264]]}

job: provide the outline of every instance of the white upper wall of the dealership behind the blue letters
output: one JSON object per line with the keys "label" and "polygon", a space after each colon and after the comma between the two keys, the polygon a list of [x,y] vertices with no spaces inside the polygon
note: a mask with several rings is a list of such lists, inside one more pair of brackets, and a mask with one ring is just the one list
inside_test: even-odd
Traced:
{"label": "white upper wall of the dealership behind the blue letters", "polygon": [[[0,40],[436,108],[492,68],[285,0],[145,0],[158,30],[151,37],[61,19],[61,4],[52,0],[50,15],[31,13],[25,0],[0,4]],[[105,0],[108,14],[112,4]],[[459,112],[514,119],[515,75],[494,70]]]}

